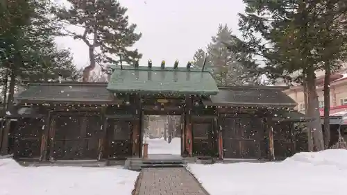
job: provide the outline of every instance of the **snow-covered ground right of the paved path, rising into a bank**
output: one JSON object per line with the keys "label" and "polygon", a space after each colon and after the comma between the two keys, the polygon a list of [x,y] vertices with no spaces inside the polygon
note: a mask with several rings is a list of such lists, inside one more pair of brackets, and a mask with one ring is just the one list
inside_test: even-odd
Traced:
{"label": "snow-covered ground right of the paved path, rising into a bank", "polygon": [[283,162],[189,164],[211,195],[347,194],[347,151],[297,153]]}

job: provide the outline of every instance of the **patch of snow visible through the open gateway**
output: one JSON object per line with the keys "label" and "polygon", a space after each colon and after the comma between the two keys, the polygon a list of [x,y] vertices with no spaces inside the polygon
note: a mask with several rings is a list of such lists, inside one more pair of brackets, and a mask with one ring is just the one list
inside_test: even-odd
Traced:
{"label": "patch of snow visible through the open gateway", "polygon": [[164,138],[146,139],[149,144],[149,154],[173,154],[180,155],[180,137],[174,137],[171,143]]}

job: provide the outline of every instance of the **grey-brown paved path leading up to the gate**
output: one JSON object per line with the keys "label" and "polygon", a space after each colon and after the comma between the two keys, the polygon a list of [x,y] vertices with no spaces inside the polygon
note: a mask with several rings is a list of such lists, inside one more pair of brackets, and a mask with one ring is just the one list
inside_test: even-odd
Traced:
{"label": "grey-brown paved path leading up to the gate", "polygon": [[208,195],[184,167],[142,169],[135,195]]}

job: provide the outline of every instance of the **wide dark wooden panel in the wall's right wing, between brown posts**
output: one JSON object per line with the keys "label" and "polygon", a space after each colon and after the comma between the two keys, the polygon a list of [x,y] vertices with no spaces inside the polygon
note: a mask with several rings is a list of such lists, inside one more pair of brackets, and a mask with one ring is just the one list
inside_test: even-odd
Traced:
{"label": "wide dark wooden panel in the wall's right wing, between brown posts", "polygon": [[264,130],[253,117],[222,120],[223,158],[261,158]]}

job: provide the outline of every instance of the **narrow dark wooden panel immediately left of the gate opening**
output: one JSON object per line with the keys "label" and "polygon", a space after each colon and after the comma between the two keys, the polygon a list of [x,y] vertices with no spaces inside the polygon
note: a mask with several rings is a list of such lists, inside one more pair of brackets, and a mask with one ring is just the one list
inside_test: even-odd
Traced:
{"label": "narrow dark wooden panel immediately left of the gate opening", "polygon": [[122,159],[132,155],[130,121],[109,119],[107,126],[108,144],[105,149],[108,159]]}

